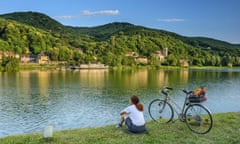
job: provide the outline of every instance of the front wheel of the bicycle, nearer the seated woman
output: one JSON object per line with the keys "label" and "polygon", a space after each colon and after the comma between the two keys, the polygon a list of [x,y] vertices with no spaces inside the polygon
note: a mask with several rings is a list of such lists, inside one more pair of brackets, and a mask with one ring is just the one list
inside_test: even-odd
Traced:
{"label": "front wheel of the bicycle, nearer the seated woman", "polygon": [[150,117],[159,123],[170,122],[174,115],[172,106],[160,99],[155,99],[149,104],[148,112]]}

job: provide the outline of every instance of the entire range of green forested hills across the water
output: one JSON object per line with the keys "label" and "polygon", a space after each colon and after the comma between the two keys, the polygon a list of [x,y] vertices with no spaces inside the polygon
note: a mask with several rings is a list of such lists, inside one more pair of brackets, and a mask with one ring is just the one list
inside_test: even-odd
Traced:
{"label": "entire range of green forested hills across the water", "polygon": [[[159,62],[154,53],[164,48],[168,48],[168,56]],[[179,65],[183,59],[193,65],[240,65],[240,45],[212,38],[185,37],[127,22],[64,26],[37,12],[0,15],[0,51],[26,54],[26,49],[32,54],[47,52],[52,60],[112,66],[135,65],[133,58],[126,56],[128,52],[135,52],[154,65]]]}

